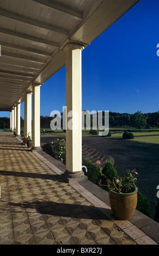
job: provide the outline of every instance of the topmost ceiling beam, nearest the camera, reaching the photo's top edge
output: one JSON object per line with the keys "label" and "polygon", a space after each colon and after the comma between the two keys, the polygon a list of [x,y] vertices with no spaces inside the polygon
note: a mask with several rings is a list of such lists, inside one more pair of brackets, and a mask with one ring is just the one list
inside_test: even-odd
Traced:
{"label": "topmost ceiling beam, nearest the camera, reaching the photo's top edge", "polygon": [[79,21],[82,21],[82,18],[83,18],[83,14],[82,13],[79,13],[78,11],[76,10],[73,10],[72,8],[64,5],[64,4],[59,4],[58,2],[56,1],[48,1],[48,0],[33,0],[34,2],[37,2],[37,3],[40,3],[40,4],[43,4],[43,5],[46,5],[50,8],[53,8],[55,10],[58,10],[66,15],[69,15],[71,17],[73,17],[75,20],[79,20]]}

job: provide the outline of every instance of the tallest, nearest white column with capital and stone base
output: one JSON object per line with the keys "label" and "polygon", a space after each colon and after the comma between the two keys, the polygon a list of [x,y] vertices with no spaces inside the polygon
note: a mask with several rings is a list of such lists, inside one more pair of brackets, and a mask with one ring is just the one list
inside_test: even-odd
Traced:
{"label": "tallest, nearest white column with capital and stone base", "polygon": [[[68,181],[87,179],[82,171],[82,50],[83,46],[68,44],[66,52],[66,172]],[[72,124],[72,127],[71,127]]]}

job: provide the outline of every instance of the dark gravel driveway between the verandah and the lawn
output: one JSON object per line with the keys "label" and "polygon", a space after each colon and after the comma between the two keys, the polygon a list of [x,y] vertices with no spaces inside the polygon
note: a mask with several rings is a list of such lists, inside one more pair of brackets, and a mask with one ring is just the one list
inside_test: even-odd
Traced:
{"label": "dark gravel driveway between the verandah and the lawn", "polygon": [[[57,137],[41,137],[41,144]],[[136,168],[138,190],[149,198],[152,216],[156,213],[157,185],[159,185],[159,144],[142,143],[123,138],[83,137],[82,142],[105,155],[111,155],[119,175]],[[98,159],[97,159],[98,160]]]}

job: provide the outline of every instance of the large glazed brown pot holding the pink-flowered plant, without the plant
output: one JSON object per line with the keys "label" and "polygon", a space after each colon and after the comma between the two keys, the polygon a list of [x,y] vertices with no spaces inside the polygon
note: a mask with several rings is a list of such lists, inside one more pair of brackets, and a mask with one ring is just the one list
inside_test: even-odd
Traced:
{"label": "large glazed brown pot holding the pink-flowered plant, without the plant", "polygon": [[113,215],[118,220],[130,220],[137,206],[137,189],[132,193],[109,191],[109,202]]}

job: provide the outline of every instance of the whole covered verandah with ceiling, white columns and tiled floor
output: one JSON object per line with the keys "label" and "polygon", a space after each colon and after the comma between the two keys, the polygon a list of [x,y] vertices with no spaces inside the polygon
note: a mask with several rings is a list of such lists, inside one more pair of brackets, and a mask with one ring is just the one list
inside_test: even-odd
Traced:
{"label": "whole covered verandah with ceiling, white columns and tiled floor", "polygon": [[[158,224],[139,212],[114,220],[107,193],[82,171],[81,52],[137,2],[1,1],[0,111],[12,131],[0,133],[1,244],[159,242]],[[63,166],[40,147],[40,87],[65,65],[67,113],[73,123],[79,114],[79,129],[66,130]],[[22,102],[31,150],[19,138]]]}

